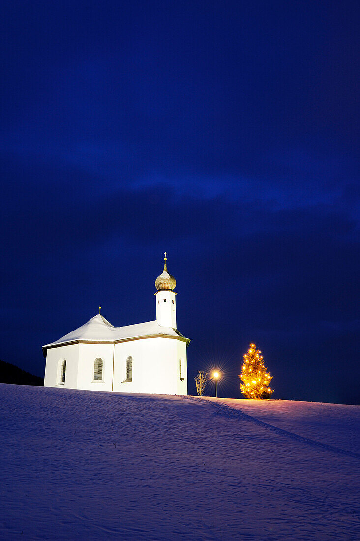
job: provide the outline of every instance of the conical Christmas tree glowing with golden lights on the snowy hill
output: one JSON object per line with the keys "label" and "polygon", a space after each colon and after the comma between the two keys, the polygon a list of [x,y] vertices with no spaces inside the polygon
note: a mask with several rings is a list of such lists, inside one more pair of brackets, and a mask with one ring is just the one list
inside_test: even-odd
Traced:
{"label": "conical Christmas tree glowing with golden lights on the snowy hill", "polygon": [[245,398],[270,398],[273,389],[269,387],[272,376],[266,372],[263,355],[256,348],[255,344],[250,344],[248,352],[244,355],[244,364],[241,366],[241,392]]}

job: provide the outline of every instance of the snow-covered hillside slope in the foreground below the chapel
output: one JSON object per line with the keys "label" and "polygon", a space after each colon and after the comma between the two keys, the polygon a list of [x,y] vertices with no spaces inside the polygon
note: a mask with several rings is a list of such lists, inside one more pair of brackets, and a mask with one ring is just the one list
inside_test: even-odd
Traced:
{"label": "snow-covered hillside slope in the foreground below the chapel", "polygon": [[359,539],[360,407],[0,385],[1,539]]}

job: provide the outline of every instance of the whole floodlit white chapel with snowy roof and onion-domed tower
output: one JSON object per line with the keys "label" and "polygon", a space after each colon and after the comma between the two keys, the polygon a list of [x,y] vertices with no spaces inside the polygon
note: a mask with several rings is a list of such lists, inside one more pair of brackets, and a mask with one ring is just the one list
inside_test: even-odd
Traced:
{"label": "whole floodlit white chapel with snowy roof and onion-domed tower", "polygon": [[45,387],[120,393],[187,394],[186,348],[176,329],[175,278],[156,278],[156,320],[114,327],[97,314],[43,346]]}

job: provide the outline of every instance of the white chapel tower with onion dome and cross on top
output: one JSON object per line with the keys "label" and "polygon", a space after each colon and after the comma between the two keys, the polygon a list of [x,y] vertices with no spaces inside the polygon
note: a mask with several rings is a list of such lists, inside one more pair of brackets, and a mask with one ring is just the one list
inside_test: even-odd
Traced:
{"label": "white chapel tower with onion dome and cross on top", "polygon": [[166,260],[165,252],[165,264],[163,266],[162,274],[155,280],[155,287],[158,289],[155,293],[156,321],[163,327],[172,327],[173,329],[176,329],[176,293],[173,291],[176,286],[176,280],[174,276],[167,272]]}

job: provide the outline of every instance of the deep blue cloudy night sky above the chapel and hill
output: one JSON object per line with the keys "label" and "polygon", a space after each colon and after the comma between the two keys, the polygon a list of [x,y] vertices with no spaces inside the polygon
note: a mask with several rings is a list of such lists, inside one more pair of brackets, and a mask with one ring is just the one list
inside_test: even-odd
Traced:
{"label": "deep blue cloudy night sky above the chapel and hill", "polygon": [[359,403],[358,2],[2,4],[0,358],[155,319],[197,370]]}

